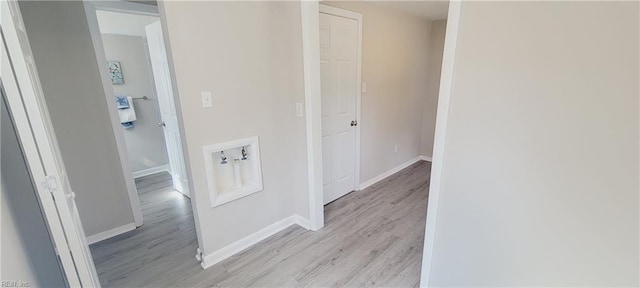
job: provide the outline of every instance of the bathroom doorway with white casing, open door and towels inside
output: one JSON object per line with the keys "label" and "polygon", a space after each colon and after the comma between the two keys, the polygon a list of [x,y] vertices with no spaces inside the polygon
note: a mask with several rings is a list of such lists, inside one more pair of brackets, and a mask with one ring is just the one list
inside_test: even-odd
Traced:
{"label": "bathroom doorway with white casing, open door and towels inside", "polygon": [[140,182],[190,197],[162,25],[154,5],[90,2],[85,9],[139,227]]}

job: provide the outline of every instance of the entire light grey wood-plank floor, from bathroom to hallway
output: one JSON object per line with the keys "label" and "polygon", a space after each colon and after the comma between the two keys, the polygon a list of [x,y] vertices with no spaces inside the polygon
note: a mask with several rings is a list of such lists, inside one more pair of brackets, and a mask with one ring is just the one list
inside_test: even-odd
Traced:
{"label": "entire light grey wood-plank floor, from bathroom to hallway", "polygon": [[154,191],[154,176],[137,183],[145,225],[91,250],[105,287],[416,287],[430,170],[416,163],[325,206],[320,231],[287,228],[206,270],[189,200]]}

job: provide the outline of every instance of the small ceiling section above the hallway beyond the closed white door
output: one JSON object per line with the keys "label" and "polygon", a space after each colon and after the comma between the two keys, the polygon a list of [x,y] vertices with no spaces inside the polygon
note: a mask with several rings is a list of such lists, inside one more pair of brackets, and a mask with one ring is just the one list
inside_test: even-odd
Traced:
{"label": "small ceiling section above the hallway beyond the closed white door", "polygon": [[373,1],[396,11],[412,14],[427,20],[447,19],[448,0],[431,1]]}

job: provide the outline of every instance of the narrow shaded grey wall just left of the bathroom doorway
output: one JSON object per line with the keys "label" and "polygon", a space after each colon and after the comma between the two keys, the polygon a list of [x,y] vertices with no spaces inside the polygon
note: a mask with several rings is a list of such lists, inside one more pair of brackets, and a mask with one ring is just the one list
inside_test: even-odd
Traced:
{"label": "narrow shaded grey wall just left of the bathroom doorway", "polygon": [[[20,2],[85,233],[133,223],[82,2]],[[127,172],[129,173],[129,172]]]}

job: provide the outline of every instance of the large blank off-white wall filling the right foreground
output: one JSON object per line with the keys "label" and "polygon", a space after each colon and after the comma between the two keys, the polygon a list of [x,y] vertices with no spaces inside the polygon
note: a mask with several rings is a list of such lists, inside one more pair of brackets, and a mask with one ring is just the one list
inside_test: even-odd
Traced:
{"label": "large blank off-white wall filling the right foreground", "polygon": [[463,2],[431,286],[638,286],[638,2]]}

